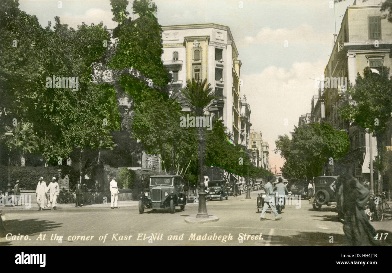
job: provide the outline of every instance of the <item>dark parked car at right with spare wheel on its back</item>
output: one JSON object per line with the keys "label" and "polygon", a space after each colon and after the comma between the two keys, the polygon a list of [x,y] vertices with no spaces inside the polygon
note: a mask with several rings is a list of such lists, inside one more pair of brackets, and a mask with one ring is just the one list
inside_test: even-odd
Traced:
{"label": "dark parked car at right with spare wheel on its back", "polygon": [[337,197],[338,188],[336,189],[336,194],[330,188],[332,183],[338,182],[338,176],[317,176],[314,178],[314,201],[313,208],[315,210],[320,210],[321,206],[331,205],[331,202],[335,202]]}

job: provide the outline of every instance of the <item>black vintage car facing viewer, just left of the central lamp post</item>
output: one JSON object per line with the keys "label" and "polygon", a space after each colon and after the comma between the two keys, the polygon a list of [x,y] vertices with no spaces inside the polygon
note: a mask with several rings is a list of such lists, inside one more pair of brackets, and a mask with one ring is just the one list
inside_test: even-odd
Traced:
{"label": "black vintage car facing viewer, just left of the central lamp post", "polygon": [[179,175],[154,175],[150,176],[149,191],[142,192],[139,196],[139,212],[145,208],[152,210],[167,209],[170,213],[176,212],[176,206],[181,211],[185,209],[187,197],[183,192],[181,176]]}

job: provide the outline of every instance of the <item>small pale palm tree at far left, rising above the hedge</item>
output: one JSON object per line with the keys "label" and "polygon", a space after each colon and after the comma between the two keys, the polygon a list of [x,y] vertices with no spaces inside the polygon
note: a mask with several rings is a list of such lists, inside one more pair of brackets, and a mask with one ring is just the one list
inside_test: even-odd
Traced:
{"label": "small pale palm tree at far left, rising above the hedge", "polygon": [[34,133],[33,124],[18,122],[15,127],[5,126],[5,130],[13,133],[13,138],[8,140],[12,150],[20,152],[20,165],[25,167],[25,154],[33,153],[38,149],[40,139]]}

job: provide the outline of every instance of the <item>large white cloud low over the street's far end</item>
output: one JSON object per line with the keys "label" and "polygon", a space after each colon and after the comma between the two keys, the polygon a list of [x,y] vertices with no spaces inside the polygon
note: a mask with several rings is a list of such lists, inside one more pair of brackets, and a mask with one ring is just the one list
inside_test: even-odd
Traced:
{"label": "large white cloud low over the street's far end", "polygon": [[[320,77],[324,65],[324,60],[293,63],[289,70],[270,66],[260,74],[241,75],[241,96],[245,94],[250,103],[251,129],[260,130],[263,141],[269,142],[270,165],[276,165],[278,171],[283,159],[273,153],[275,140],[293,131],[299,116],[310,112],[312,96],[318,92],[310,78]],[[284,125],[285,119],[288,126]]]}

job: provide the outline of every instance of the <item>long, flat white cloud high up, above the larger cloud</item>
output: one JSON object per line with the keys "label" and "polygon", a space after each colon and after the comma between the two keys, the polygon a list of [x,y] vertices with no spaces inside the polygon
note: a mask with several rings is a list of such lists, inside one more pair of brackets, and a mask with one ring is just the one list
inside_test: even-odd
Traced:
{"label": "long, flat white cloud high up, above the larger cloud", "polygon": [[256,36],[247,36],[238,42],[238,47],[247,47],[254,43],[281,43],[288,44],[317,43],[329,45],[332,34],[317,33],[310,25],[299,25],[295,29],[261,29]]}

